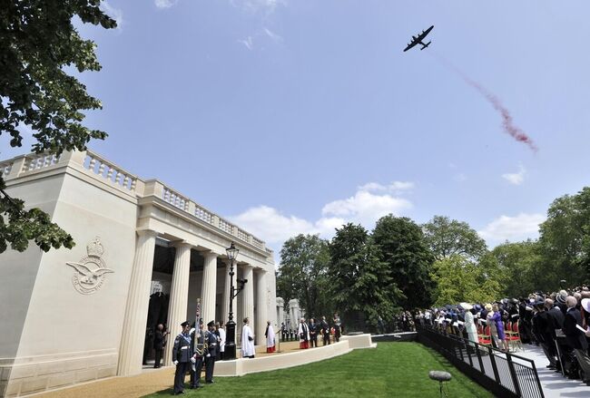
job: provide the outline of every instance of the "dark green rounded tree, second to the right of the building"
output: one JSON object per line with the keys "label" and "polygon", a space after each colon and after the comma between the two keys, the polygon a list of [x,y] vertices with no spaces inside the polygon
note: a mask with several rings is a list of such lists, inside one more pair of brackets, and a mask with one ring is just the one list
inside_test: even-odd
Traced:
{"label": "dark green rounded tree, second to the right of the building", "polygon": [[379,260],[367,229],[347,224],[329,243],[329,286],[334,305],[346,325],[377,325],[379,315],[390,319],[401,298],[389,276],[388,264]]}

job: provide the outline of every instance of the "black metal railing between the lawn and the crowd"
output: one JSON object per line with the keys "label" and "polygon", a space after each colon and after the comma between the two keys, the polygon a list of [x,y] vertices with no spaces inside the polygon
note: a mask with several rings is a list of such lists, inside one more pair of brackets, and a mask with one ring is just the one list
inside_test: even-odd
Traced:
{"label": "black metal railing between the lawn and the crowd", "polygon": [[545,398],[535,362],[480,345],[458,335],[417,325],[418,342],[435,349],[457,368],[502,397]]}

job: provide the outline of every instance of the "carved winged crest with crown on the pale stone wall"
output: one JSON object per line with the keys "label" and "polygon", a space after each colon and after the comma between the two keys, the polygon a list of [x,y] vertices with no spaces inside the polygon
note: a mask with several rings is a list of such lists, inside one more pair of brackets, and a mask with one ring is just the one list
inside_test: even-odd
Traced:
{"label": "carved winged crest with crown on the pale stone wall", "polygon": [[101,258],[104,248],[98,237],[86,245],[86,251],[88,256],[82,257],[80,262],[66,262],[65,264],[77,271],[72,277],[74,288],[83,295],[91,295],[103,286],[105,274],[114,271],[107,268]]}

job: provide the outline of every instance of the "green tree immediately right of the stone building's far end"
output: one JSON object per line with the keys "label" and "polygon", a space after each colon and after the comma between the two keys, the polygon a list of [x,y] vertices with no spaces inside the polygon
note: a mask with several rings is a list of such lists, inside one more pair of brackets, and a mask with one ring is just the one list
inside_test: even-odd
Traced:
{"label": "green tree immediately right of the stone building's far end", "polygon": [[277,274],[277,295],[297,298],[306,314],[329,314],[327,271],[328,242],[318,235],[298,235],[287,240],[280,249]]}

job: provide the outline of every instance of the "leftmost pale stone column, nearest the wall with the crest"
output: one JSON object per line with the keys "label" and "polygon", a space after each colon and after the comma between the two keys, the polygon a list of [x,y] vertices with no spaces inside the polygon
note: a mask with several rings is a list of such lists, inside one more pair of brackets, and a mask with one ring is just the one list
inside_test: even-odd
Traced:
{"label": "leftmost pale stone column, nearest the wall with the crest", "polygon": [[119,349],[118,375],[142,373],[143,343],[150,305],[150,282],[152,282],[153,251],[157,232],[137,231],[135,258],[125,306],[123,335]]}

